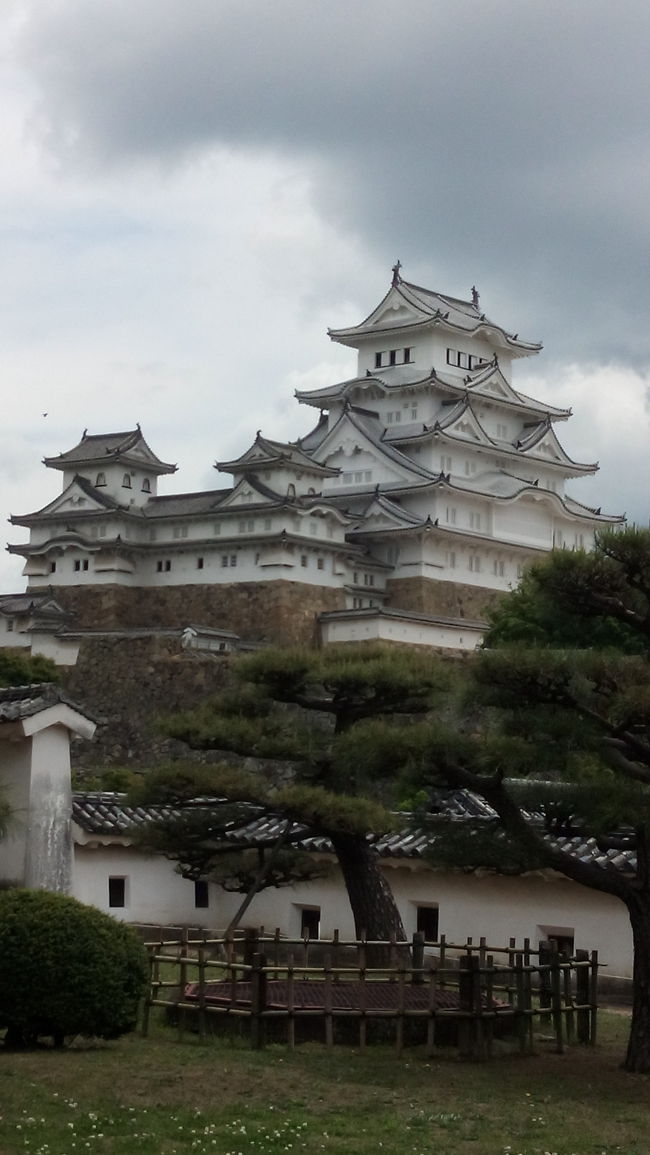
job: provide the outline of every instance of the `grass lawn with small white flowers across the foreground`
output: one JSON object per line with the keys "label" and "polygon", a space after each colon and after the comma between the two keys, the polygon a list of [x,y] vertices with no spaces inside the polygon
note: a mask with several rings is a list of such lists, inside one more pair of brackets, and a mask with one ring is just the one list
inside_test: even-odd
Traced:
{"label": "grass lawn with small white flowers across the foreground", "polygon": [[595,1050],[481,1065],[316,1044],[252,1052],[162,1027],[0,1050],[0,1155],[648,1155],[650,1076],[620,1070],[627,1028],[602,1015]]}

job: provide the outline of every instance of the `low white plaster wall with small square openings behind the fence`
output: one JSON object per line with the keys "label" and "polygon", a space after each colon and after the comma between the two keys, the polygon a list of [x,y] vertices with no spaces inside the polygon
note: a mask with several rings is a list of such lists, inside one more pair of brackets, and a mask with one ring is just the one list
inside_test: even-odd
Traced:
{"label": "low white plaster wall with small square openings behind the fence", "polygon": [[[500,878],[491,874],[438,873],[384,864],[399,907],[404,929],[416,930],[417,907],[439,907],[440,933],[462,944],[485,936],[492,947],[507,947],[511,937],[537,946],[548,929],[573,930],[576,947],[597,949],[608,976],[632,975],[632,934],[622,903],[559,877]],[[124,908],[109,907],[109,877],[126,878]],[[194,885],[181,879],[173,865],[127,847],[75,848],[75,896],[117,918],[139,923],[190,923],[223,929],[239,906],[240,896],[210,886],[208,909],[194,907]],[[319,907],[321,936],[338,930],[353,938],[350,903],[338,870],[326,879],[282,889],[269,888],[254,900],[246,926],[279,927],[283,934],[300,931],[300,908]],[[544,929],[544,930],[541,930]]]}

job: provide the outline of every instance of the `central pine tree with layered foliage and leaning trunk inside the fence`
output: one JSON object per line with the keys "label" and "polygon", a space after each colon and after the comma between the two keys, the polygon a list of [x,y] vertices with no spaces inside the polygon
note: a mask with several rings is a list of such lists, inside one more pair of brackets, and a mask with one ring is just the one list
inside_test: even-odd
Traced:
{"label": "central pine tree with layered foliage and leaning trunk inside the fence", "polygon": [[[406,737],[417,729],[412,720],[449,693],[450,664],[394,648],[331,647],[262,650],[233,669],[233,687],[164,725],[193,748],[253,760],[255,769],[247,761],[171,767],[148,777],[139,800],[181,811],[150,837],[164,839],[165,852],[185,870],[219,880],[227,873],[229,886],[242,891],[251,881],[251,849],[267,856],[266,874],[255,875],[259,886],[276,886],[278,878],[308,877],[309,859],[297,845],[306,835],[328,839],[357,931],[373,939],[403,936],[372,842],[398,825],[395,759],[402,765]],[[206,798],[223,802],[207,808]],[[281,824],[276,843],[268,824],[252,833],[251,824],[261,819],[276,829]],[[246,826],[245,844],[234,845],[233,832]],[[233,869],[233,851],[241,855],[240,870]]]}

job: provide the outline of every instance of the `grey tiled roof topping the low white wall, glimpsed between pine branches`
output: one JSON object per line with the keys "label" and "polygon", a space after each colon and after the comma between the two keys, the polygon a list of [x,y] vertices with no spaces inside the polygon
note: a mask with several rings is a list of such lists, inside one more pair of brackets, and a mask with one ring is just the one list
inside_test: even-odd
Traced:
{"label": "grey tiled roof topping the low white wall, glimpsed between pine branches", "polygon": [[[201,799],[197,799],[201,802]],[[210,799],[204,805],[210,807]],[[254,812],[255,807],[251,806]],[[469,790],[436,790],[432,796],[432,812],[446,817],[449,821],[462,822],[471,820],[494,821],[495,812]],[[179,817],[180,811],[170,806],[128,806],[125,795],[110,792],[76,792],[73,795],[73,819],[88,834],[100,836],[121,835],[136,830],[147,822],[159,818]],[[540,815],[529,814],[529,820],[538,825]],[[283,819],[253,817],[245,826],[234,826],[225,833],[225,839],[238,847],[247,843],[259,844],[260,840],[272,844],[285,827]],[[305,827],[296,826],[296,837],[292,839],[305,850],[331,854],[331,843],[326,837],[309,836]],[[581,862],[592,863],[603,869],[613,867],[633,873],[636,858],[630,850],[603,850],[595,839],[583,835],[565,836],[546,834],[547,841],[559,850],[570,854]],[[435,834],[425,829],[406,829],[386,834],[374,842],[376,852],[382,858],[423,858],[433,844]]]}

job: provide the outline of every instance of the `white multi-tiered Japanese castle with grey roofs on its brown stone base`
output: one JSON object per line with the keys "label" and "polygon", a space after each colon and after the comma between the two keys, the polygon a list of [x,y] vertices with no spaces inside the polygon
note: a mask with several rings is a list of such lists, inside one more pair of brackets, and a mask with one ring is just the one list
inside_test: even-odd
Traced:
{"label": "white multi-tiered Japanese castle with grey roofs on its brown stone base", "polygon": [[[558,439],[570,410],[515,389],[514,362],[541,346],[491,321],[476,289],[433,292],[397,263],[369,315],[329,336],[358,351],[356,375],[298,392],[313,427],[293,442],[257,432],[217,463],[232,484],[158,495],[175,465],[140,426],[45,459],[62,492],[13,516],[29,543],[8,546],[32,617],[43,603],[81,629],[201,623],[253,641],[471,649],[528,562],[622,521],[566,492],[597,465]],[[10,605],[2,624],[18,628]]]}

